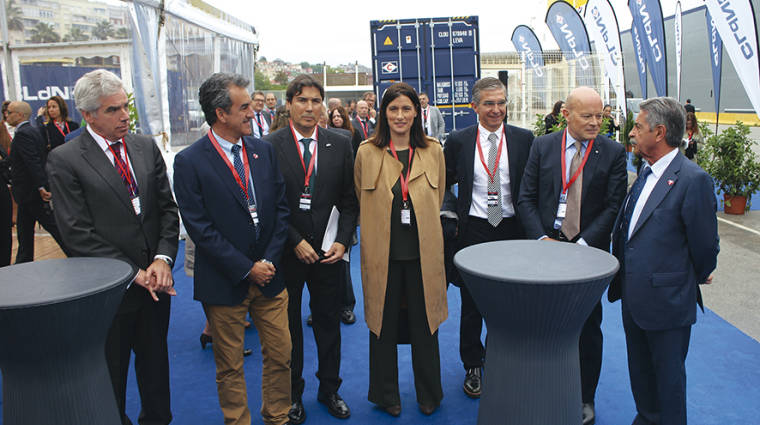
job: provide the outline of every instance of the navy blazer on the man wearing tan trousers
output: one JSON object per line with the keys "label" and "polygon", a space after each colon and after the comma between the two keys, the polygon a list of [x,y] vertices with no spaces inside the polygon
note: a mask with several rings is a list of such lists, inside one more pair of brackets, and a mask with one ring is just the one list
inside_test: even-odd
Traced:
{"label": "navy blazer on the man wearing tan trousers", "polygon": [[287,238],[285,183],[272,145],[244,136],[253,175],[259,236],[232,172],[203,136],[174,159],[174,192],[187,233],[195,242],[195,299],[213,305],[240,304],[253,264],[266,259],[278,269],[261,292],[274,297],[285,288],[279,270]]}

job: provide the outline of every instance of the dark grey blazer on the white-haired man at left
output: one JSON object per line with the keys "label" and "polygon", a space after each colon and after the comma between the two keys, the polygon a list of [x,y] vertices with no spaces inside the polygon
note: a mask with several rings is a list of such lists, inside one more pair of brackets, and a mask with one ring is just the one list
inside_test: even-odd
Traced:
{"label": "dark grey blazer on the white-haired man at left", "polygon": [[[139,188],[139,216],[119,173],[88,131],[50,152],[53,212],[71,256],[117,258],[146,269],[157,254],[172,260],[177,255],[177,205],[153,139],[128,134],[124,142]],[[137,292],[146,291],[132,285],[125,302],[130,293],[136,302]]]}

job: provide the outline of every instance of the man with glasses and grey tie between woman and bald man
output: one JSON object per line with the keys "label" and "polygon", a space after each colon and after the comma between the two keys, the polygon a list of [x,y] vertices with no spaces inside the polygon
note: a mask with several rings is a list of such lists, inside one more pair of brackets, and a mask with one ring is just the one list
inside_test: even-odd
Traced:
{"label": "man with glasses and grey tie between woman and bald man", "polygon": [[[472,107],[478,114],[478,124],[451,133],[443,149],[446,185],[459,185],[458,249],[524,237],[515,205],[533,134],[504,122],[507,89],[496,78],[475,83]],[[480,341],[483,316],[467,287],[461,285],[460,291],[459,354],[466,371],[463,389],[468,396],[477,398],[485,356]]]}

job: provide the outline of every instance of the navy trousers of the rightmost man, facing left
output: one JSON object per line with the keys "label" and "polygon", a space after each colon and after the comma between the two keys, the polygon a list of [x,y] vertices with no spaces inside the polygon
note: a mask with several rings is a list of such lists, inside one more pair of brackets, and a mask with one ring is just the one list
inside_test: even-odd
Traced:
{"label": "navy trousers of the rightmost man, facing left", "polygon": [[641,329],[623,304],[628,374],[636,402],[634,425],[686,425],[686,355],[691,325]]}

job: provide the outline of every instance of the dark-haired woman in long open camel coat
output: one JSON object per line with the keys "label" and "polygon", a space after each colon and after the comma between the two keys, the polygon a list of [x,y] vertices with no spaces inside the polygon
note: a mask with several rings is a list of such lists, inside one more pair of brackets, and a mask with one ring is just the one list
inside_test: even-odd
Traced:
{"label": "dark-haired woman in long open camel coat", "polygon": [[438,327],[448,315],[439,218],[445,171],[441,145],[423,133],[417,93],[394,84],[383,96],[375,134],[360,145],[354,165],[370,330],[369,400],[393,416],[401,413],[396,344],[402,305],[408,308],[420,410],[433,413],[443,398]]}

